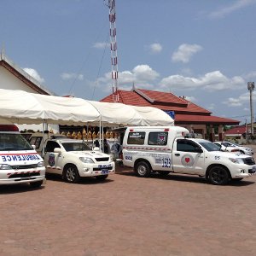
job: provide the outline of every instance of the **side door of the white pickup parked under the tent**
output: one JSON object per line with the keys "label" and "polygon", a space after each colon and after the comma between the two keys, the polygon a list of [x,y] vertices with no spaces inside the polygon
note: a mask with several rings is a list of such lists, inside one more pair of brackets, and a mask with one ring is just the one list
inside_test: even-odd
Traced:
{"label": "side door of the white pickup parked under the tent", "polygon": [[49,173],[57,173],[60,169],[60,157],[59,153],[55,153],[55,148],[61,148],[59,143],[54,141],[48,141],[45,148],[45,155],[44,155],[44,166],[46,168],[46,172]]}

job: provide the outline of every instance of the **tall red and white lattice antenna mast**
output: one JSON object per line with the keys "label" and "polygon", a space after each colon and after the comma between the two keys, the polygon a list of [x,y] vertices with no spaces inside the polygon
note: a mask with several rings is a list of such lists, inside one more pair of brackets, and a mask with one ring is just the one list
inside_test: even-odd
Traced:
{"label": "tall red and white lattice antenna mast", "polygon": [[110,24],[110,49],[111,49],[111,67],[112,67],[112,95],[113,102],[119,102],[118,94],[118,57],[116,44],[116,26],[115,26],[115,0],[104,0],[109,9],[109,24]]}

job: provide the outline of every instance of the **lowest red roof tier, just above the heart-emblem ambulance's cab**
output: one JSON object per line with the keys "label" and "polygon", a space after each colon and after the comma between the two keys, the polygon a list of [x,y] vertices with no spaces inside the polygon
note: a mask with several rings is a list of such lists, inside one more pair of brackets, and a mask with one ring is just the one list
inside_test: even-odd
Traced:
{"label": "lowest red roof tier, just above the heart-emblem ambulance's cab", "polygon": [[212,115],[175,114],[175,123],[238,125],[239,121]]}

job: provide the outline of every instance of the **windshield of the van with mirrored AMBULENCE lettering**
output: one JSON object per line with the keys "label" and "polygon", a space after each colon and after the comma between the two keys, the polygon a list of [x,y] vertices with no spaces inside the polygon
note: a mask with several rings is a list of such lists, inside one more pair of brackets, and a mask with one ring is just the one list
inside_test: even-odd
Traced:
{"label": "windshield of the van with mirrored AMBULENCE lettering", "polygon": [[0,133],[0,151],[32,150],[32,145],[20,133]]}

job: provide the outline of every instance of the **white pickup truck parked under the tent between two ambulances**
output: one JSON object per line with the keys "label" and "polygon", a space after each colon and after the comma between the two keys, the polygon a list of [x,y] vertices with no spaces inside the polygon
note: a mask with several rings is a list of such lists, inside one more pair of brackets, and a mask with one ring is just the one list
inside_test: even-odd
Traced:
{"label": "white pickup truck parked under the tent between two ambulances", "polygon": [[92,150],[82,140],[65,137],[45,142],[44,165],[47,173],[61,174],[68,183],[78,183],[80,177],[103,180],[115,172],[108,154],[101,153],[99,148]]}

